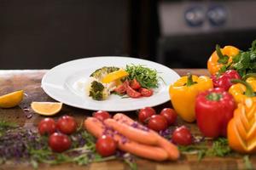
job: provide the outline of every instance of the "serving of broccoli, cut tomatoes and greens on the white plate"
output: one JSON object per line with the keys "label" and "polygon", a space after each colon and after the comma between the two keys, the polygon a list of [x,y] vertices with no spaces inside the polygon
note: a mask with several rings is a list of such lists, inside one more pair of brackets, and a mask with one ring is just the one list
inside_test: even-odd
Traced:
{"label": "serving of broccoli, cut tomatoes and greens on the white plate", "polygon": [[152,88],[158,88],[159,79],[157,71],[143,65],[104,66],[90,75],[85,93],[95,100],[108,99],[110,94],[150,97],[154,94]]}

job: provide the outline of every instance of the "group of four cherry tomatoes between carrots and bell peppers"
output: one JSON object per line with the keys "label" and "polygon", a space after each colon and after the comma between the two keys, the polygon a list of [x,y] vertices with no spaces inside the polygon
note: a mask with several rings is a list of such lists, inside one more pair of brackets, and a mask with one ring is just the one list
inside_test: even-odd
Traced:
{"label": "group of four cherry tomatoes between carrots and bell peppers", "polygon": [[[165,108],[156,114],[152,107],[144,107],[138,111],[138,120],[147,125],[148,128],[160,132],[172,126],[177,120],[177,113],[171,108]],[[189,145],[192,144],[192,134],[188,127],[177,127],[172,135],[172,142],[175,144]]]}

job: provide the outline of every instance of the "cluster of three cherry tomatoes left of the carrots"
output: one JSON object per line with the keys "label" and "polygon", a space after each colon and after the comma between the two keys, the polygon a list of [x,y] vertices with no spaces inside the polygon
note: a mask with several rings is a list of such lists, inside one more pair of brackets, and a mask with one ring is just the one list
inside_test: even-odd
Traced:
{"label": "cluster of three cherry tomatoes left of the carrots", "polygon": [[67,135],[76,132],[77,127],[73,116],[61,116],[57,122],[52,118],[44,118],[38,124],[38,132],[49,135],[48,144],[51,150],[62,152],[70,148],[71,140]]}

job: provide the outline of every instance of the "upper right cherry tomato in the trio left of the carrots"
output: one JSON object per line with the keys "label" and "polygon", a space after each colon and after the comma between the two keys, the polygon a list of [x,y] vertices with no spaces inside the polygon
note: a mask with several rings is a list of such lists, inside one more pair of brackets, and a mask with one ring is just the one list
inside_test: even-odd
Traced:
{"label": "upper right cherry tomato in the trio left of the carrots", "polygon": [[73,116],[61,116],[57,121],[57,128],[61,133],[74,133],[77,127],[77,122],[74,120]]}

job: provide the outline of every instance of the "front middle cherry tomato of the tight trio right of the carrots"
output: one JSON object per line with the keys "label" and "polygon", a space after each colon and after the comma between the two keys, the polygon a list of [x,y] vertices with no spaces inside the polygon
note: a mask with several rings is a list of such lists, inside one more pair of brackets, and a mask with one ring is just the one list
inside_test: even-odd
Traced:
{"label": "front middle cherry tomato of the tight trio right of the carrots", "polygon": [[166,120],[166,117],[161,115],[153,115],[150,116],[148,121],[148,128],[151,128],[154,131],[161,131],[165,130],[168,127],[168,122]]}

